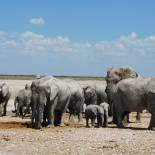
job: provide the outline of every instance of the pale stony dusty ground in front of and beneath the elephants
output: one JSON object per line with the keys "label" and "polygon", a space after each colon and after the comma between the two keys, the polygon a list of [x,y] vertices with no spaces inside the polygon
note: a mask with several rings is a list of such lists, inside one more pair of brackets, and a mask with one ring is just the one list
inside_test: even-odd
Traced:
{"label": "pale stony dusty ground in front of and beneath the elephants", "polygon": [[[30,81],[7,82],[12,91],[11,111],[16,92]],[[86,128],[83,120],[81,125],[34,130],[27,128],[29,118],[16,118],[8,112],[8,116],[0,117],[0,155],[154,155],[155,131],[147,130],[149,119],[150,115],[143,113],[141,123],[134,123],[132,114],[133,123],[125,129],[112,124],[109,128]]]}

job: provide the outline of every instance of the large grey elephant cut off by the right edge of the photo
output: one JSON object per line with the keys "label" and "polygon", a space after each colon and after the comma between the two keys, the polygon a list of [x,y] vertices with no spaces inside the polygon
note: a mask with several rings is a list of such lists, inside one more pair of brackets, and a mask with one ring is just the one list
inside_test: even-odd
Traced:
{"label": "large grey elephant cut off by the right edge of the photo", "polygon": [[151,113],[148,129],[155,127],[155,77],[147,79],[125,79],[115,85],[113,102],[113,120],[119,127],[124,127],[123,117],[130,112],[144,109]]}

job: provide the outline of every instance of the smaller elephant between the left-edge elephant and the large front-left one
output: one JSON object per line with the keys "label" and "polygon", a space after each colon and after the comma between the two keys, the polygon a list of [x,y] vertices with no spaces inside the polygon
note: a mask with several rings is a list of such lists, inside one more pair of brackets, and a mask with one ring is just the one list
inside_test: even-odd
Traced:
{"label": "smaller elephant between the left-edge elephant and the large front-left one", "polygon": [[18,92],[14,101],[15,111],[13,111],[16,112],[16,116],[22,116],[24,118],[27,113],[30,113],[31,96],[32,92],[28,87]]}

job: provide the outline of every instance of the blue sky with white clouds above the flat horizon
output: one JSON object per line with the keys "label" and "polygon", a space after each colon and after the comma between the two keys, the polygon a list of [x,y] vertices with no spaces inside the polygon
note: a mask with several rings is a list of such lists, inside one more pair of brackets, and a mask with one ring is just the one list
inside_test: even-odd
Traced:
{"label": "blue sky with white clouds above the flat horizon", "polygon": [[155,75],[154,0],[1,0],[0,73]]}

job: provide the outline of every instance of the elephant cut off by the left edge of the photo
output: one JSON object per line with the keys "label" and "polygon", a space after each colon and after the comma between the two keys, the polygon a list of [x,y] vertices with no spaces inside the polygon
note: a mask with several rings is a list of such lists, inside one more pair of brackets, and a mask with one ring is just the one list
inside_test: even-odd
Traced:
{"label": "elephant cut off by the left edge of the photo", "polygon": [[5,82],[0,83],[0,116],[6,115],[7,103],[10,99],[11,93],[9,87]]}

